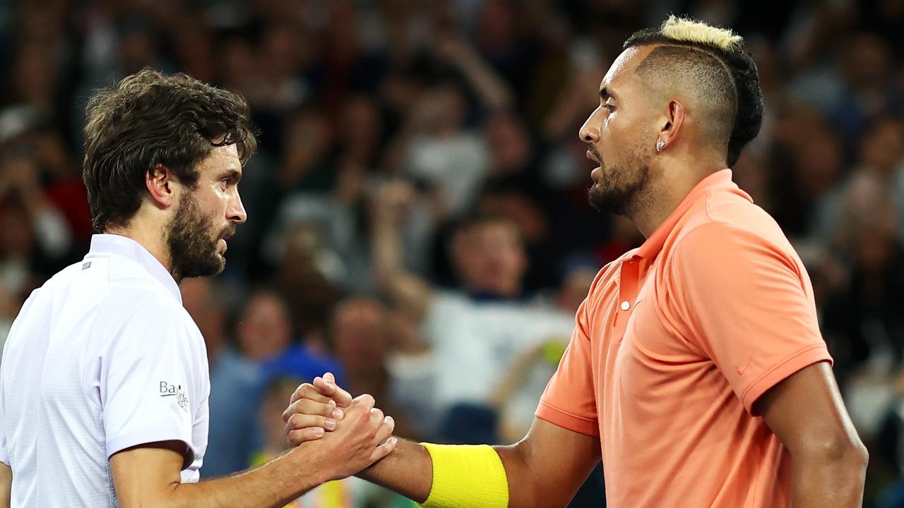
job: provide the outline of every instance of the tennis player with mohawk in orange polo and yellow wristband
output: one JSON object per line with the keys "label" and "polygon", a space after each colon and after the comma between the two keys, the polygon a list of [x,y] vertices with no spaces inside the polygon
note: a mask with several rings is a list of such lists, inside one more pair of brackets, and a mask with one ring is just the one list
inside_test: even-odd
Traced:
{"label": "tennis player with mohawk in orange polo and yellow wristband", "polygon": [[[810,279],[731,181],[763,115],[743,40],[671,17],[626,41],[599,96],[580,129],[589,200],[646,240],[599,272],[531,431],[400,442],[362,476],[424,506],[565,506],[601,457],[611,508],[861,506],[867,454]],[[350,400],[330,375],[302,385],[290,439]]]}

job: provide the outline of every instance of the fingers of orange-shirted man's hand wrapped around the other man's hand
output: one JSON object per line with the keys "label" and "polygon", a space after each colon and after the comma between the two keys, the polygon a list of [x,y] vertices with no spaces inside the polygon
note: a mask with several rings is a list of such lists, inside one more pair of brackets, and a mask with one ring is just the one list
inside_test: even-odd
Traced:
{"label": "fingers of orange-shirted man's hand wrapped around the other man's hand", "polygon": [[331,372],[326,372],[322,378],[314,378],[313,384],[298,386],[283,412],[288,442],[297,447],[334,431],[338,422],[345,418],[344,409],[352,401],[352,395],[339,388]]}

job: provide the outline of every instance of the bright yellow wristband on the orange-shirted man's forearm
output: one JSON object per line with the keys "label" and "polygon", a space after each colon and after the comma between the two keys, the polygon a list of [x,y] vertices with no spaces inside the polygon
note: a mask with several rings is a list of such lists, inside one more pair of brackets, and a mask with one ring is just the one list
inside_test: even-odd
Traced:
{"label": "bright yellow wristband on the orange-shirted man's forearm", "polygon": [[502,459],[486,445],[421,443],[433,460],[433,484],[424,508],[507,508]]}

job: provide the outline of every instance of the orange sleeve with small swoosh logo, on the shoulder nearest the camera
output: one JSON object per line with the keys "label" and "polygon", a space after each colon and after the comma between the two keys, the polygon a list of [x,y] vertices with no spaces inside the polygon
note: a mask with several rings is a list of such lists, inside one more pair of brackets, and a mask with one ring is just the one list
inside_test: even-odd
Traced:
{"label": "orange sleeve with small swoosh logo, on the shoulder nearest the camera", "polygon": [[671,260],[676,321],[751,414],[778,382],[813,363],[832,362],[809,277],[790,245],[711,222],[679,240]]}

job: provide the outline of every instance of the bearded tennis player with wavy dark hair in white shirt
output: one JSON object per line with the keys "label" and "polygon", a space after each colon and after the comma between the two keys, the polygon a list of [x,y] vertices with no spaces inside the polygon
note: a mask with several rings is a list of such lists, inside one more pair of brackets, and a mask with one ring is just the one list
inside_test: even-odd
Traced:
{"label": "bearded tennis player with wavy dark hair in white shirt", "polygon": [[389,455],[394,423],[362,396],[344,414],[297,415],[336,429],[323,438],[198,481],[210,381],[178,283],[220,273],[246,219],[249,107],[145,70],[100,90],[87,112],[83,178],[99,234],[33,292],[5,343],[0,507],[279,507]]}

